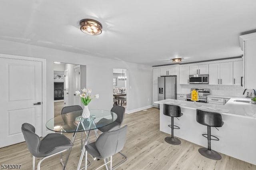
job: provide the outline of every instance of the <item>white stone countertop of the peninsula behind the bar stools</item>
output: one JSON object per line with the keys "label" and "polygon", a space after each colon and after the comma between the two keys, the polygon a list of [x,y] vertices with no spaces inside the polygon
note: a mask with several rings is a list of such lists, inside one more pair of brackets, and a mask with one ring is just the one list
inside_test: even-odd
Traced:
{"label": "white stone countertop of the peninsula behind the bar stools", "polygon": [[208,103],[199,103],[192,101],[181,101],[181,100],[175,100],[175,99],[165,99],[161,101],[156,101],[157,104],[168,104],[168,102],[171,103],[178,103],[182,104],[181,108],[187,108],[187,109],[198,109],[201,106],[206,107],[214,107],[219,109],[227,109],[229,112],[219,112],[223,115],[230,115],[230,116],[236,116],[236,117],[245,117],[249,119],[255,119],[256,120],[256,105],[251,103],[242,103],[242,102],[235,102],[234,100],[246,100],[250,101],[250,98],[246,97],[232,97],[225,105],[214,105],[214,104],[208,104]]}

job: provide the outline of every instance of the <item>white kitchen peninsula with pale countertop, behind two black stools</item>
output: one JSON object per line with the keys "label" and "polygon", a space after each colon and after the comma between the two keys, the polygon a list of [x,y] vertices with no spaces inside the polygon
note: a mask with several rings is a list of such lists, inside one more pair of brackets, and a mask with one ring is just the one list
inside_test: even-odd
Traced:
{"label": "white kitchen peninsula with pale countertop, behind two black stools", "polygon": [[155,103],[160,104],[160,131],[171,133],[171,128],[168,127],[171,118],[163,114],[163,104],[179,105],[183,115],[179,117],[179,121],[178,119],[174,121],[174,125],[180,127],[178,130],[175,129],[174,135],[207,148],[207,139],[202,136],[207,133],[207,127],[196,122],[196,109],[201,107],[221,109],[225,112],[212,110],[220,113],[224,121],[224,125],[218,128],[219,130],[211,128],[212,135],[220,138],[219,141],[211,141],[212,150],[256,165],[256,105],[236,102],[238,100],[250,99],[233,97],[226,105],[194,104],[191,101],[174,99],[156,101]]}

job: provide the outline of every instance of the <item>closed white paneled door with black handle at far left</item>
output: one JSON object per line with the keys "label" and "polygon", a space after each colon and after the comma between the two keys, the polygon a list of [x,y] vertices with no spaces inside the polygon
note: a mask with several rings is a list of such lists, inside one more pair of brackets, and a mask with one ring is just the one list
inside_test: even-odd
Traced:
{"label": "closed white paneled door with black handle at far left", "polygon": [[42,136],[42,62],[0,58],[0,77],[0,148],[24,141],[23,123]]}

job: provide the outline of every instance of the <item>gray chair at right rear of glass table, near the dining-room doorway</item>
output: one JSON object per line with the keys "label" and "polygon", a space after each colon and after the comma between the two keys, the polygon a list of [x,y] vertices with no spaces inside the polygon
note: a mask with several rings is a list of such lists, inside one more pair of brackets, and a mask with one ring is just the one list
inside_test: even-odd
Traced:
{"label": "gray chair at right rear of glass table, near the dining-room doorway", "polygon": [[[122,123],[124,121],[124,114],[125,114],[125,108],[124,107],[122,107],[122,106],[114,106],[114,107],[112,107],[111,111],[116,113],[117,119],[116,119],[116,121],[114,121],[113,123],[111,123],[111,124],[109,124],[107,126],[98,128],[98,130],[100,130],[101,132],[109,132],[111,130],[118,129],[118,128],[121,127],[121,125],[122,125]],[[97,125],[100,124],[101,121],[106,121],[106,119],[105,118],[100,119],[100,121],[98,121]],[[120,164],[124,163],[127,160],[127,156],[125,154],[123,154],[122,152],[119,152],[119,153],[122,156],[124,156],[124,160],[122,160],[121,162],[116,164],[113,167],[113,169],[116,168],[117,166],[119,166]]]}

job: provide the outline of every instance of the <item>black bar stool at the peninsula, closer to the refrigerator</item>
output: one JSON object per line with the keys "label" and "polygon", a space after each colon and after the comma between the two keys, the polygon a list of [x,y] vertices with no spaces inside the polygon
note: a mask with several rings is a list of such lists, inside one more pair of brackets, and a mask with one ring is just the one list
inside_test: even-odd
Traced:
{"label": "black bar stool at the peninsula, closer to the refrigerator", "polygon": [[163,112],[164,112],[164,115],[170,116],[171,121],[172,121],[172,125],[168,125],[168,127],[172,128],[172,136],[171,137],[166,137],[166,138],[164,138],[164,140],[169,144],[178,145],[181,142],[178,138],[174,138],[174,129],[180,129],[180,127],[174,125],[174,117],[176,117],[176,118],[181,117],[183,115],[183,113],[181,113],[181,110],[180,110],[179,106],[177,106],[177,105],[166,105],[166,104],[164,104]]}

